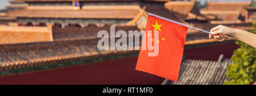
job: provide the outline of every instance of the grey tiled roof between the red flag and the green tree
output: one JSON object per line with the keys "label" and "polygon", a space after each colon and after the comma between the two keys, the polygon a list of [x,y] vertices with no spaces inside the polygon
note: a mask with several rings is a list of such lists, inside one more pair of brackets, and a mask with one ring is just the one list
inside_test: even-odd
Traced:
{"label": "grey tiled roof between the red flag and the green tree", "polygon": [[162,85],[222,85],[226,76],[226,67],[233,63],[220,55],[217,61],[185,59],[181,63],[177,82],[165,79]]}

